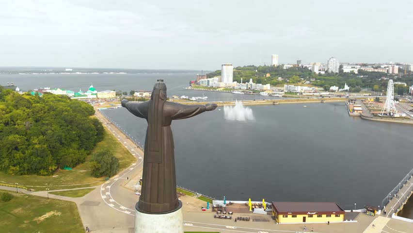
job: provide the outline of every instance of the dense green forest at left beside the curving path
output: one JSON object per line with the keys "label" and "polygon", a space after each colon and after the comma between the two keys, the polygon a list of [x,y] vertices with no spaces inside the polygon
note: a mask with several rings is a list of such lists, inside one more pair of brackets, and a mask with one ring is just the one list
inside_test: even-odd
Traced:
{"label": "dense green forest at left beside the curving path", "polygon": [[[1,89],[0,89],[1,91]],[[104,129],[93,107],[65,96],[0,93],[0,170],[50,175],[83,163]]]}

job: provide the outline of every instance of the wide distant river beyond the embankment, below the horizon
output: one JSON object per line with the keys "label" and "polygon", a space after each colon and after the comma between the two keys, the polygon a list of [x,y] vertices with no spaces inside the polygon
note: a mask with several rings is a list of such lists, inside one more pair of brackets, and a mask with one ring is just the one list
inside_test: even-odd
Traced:
{"label": "wide distant river beyond the embankment, below the horizon", "polygon": [[152,90],[157,79],[167,85],[168,96],[208,97],[208,100],[262,100],[274,99],[268,96],[241,95],[211,91],[186,90],[183,87],[196,79],[196,73],[151,73],[151,74],[15,74],[0,75],[0,85],[15,83],[21,90],[41,87],[62,88],[78,92],[87,91],[93,84],[97,91]]}

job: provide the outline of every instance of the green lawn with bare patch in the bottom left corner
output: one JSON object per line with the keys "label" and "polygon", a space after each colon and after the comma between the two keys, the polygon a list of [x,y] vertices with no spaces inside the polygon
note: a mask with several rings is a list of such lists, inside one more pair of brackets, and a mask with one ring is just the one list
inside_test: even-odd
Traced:
{"label": "green lawn with bare patch in the bottom left corner", "polygon": [[75,203],[32,195],[12,194],[14,195],[12,200],[0,202],[1,232],[85,232]]}

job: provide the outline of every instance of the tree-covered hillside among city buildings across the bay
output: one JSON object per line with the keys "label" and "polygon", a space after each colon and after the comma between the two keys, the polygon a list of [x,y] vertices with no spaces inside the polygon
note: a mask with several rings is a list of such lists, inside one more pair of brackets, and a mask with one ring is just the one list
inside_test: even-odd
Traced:
{"label": "tree-covered hillside among city buildings across the bay", "polygon": [[[254,83],[267,84],[276,86],[280,84],[296,83],[302,84],[310,81],[310,84],[329,89],[330,86],[344,87],[347,83],[354,92],[366,88],[373,91],[385,91],[387,89],[387,79],[393,79],[395,82],[407,83],[407,86],[395,85],[395,92],[402,95],[409,91],[409,85],[413,85],[413,73],[411,71],[404,74],[404,70],[399,68],[398,75],[389,75],[383,72],[369,72],[358,70],[358,74],[344,73],[340,66],[339,73],[316,74],[305,67],[291,67],[284,69],[282,65],[274,66],[244,66],[234,67],[234,81],[240,83],[249,82],[253,79]],[[267,77],[267,74],[270,74]],[[208,78],[221,75],[221,70],[208,73]],[[278,80],[281,77],[283,80]],[[381,79],[384,77],[385,79]]]}

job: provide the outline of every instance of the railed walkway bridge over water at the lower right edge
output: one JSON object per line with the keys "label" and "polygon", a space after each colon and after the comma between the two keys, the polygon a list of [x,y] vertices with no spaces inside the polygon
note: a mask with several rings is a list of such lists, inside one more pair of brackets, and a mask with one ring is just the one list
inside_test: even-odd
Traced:
{"label": "railed walkway bridge over water at the lower right edge", "polygon": [[381,202],[381,213],[386,217],[397,216],[413,193],[413,169],[396,185]]}

